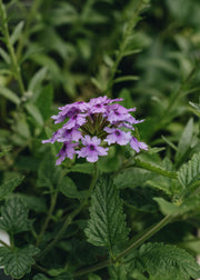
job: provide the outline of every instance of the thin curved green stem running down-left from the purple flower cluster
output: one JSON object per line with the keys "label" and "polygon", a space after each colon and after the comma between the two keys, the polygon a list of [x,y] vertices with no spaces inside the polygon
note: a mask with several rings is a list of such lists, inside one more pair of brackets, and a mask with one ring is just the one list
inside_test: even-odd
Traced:
{"label": "thin curved green stem running down-left from the purple flower cluster", "polygon": [[71,222],[73,221],[73,219],[80,213],[80,211],[83,209],[83,207],[88,203],[88,200],[91,196],[91,192],[93,190],[93,187],[96,184],[97,178],[98,178],[98,168],[97,168],[97,163],[94,163],[94,170],[93,170],[93,177],[90,183],[90,188],[88,191],[87,197],[82,200],[82,202],[80,203],[80,206],[74,209],[74,211],[72,211],[66,219],[62,228],[60,229],[60,231],[58,232],[58,234],[54,237],[54,239],[46,247],[46,249],[38,256],[38,258],[43,258],[54,246],[56,243],[62,238],[63,233],[66,232],[67,228],[71,224]]}

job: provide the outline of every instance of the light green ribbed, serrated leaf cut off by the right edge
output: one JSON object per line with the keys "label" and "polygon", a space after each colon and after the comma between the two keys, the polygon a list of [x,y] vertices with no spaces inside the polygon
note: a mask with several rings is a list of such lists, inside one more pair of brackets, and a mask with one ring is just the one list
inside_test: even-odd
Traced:
{"label": "light green ribbed, serrated leaf cut off by the right edge", "polygon": [[179,169],[178,179],[184,189],[200,179],[200,152],[193,154],[191,160]]}

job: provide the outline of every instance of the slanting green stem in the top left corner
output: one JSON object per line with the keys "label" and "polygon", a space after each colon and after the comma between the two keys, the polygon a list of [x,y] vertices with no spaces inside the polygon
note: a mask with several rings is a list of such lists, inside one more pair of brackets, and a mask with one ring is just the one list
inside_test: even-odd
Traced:
{"label": "slanting green stem in the top left corner", "polygon": [[9,28],[8,28],[8,17],[7,17],[6,7],[2,3],[2,0],[0,0],[0,18],[1,18],[1,21],[2,21],[2,33],[4,36],[4,42],[7,44],[9,53],[10,53],[11,63],[12,63],[12,67],[13,67],[13,73],[14,73],[14,77],[16,77],[16,79],[18,81],[21,94],[23,94],[26,92],[26,89],[24,89],[24,84],[23,84],[23,81],[22,81],[22,77],[21,77],[21,69],[20,69],[20,67],[18,64],[18,60],[17,60],[17,57],[16,57],[16,53],[14,53],[14,49],[13,49],[13,46],[12,46],[11,40],[10,40]]}

